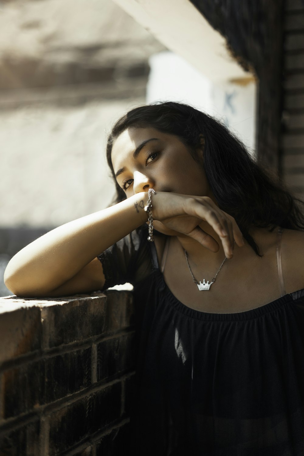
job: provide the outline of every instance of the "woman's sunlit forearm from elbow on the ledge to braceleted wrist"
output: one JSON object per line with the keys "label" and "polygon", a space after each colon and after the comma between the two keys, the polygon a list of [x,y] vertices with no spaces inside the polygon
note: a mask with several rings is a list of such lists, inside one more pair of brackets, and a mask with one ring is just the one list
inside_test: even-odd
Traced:
{"label": "woman's sunlit forearm from elbow on the ledge to braceleted wrist", "polygon": [[15,294],[47,292],[77,274],[98,254],[148,220],[141,192],[53,229],[20,250],[5,269],[5,284]]}

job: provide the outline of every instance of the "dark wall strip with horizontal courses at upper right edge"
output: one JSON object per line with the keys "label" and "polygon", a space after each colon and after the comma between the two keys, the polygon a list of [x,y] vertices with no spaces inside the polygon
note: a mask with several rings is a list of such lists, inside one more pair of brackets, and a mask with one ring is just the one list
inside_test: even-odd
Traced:
{"label": "dark wall strip with horizontal courses at upper right edge", "polygon": [[304,199],[304,0],[286,0],[283,40],[282,171]]}

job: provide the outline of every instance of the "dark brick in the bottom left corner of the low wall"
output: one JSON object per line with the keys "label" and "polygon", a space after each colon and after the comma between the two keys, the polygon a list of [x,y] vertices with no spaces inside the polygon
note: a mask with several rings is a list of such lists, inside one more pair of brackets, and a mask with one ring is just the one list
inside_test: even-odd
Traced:
{"label": "dark brick in the bottom left corner of the low wall", "polygon": [[0,430],[1,456],[41,456],[39,448],[39,421],[14,430]]}

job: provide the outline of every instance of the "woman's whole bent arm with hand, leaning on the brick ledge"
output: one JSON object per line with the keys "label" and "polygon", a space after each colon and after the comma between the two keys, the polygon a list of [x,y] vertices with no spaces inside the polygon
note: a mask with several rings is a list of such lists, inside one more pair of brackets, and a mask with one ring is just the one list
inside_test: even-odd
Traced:
{"label": "woman's whole bent arm with hand, leaning on the brick ledge", "polygon": [[[5,269],[5,285],[16,295],[47,296],[100,288],[98,254],[148,221],[144,206],[148,192],[140,192],[99,212],[66,223],[20,250]],[[226,256],[231,258],[234,240],[243,245],[234,218],[209,197],[157,192],[152,197],[153,218],[173,232],[183,233],[211,251],[218,244],[200,224],[209,224],[220,237]],[[222,232],[224,230],[224,232]],[[95,278],[93,281],[92,272]],[[78,275],[78,276],[77,276]],[[77,284],[82,281],[82,285]],[[67,283],[68,281],[69,284]],[[66,286],[63,286],[66,284]],[[88,286],[86,285],[88,284]],[[96,284],[96,285],[95,285]]]}

